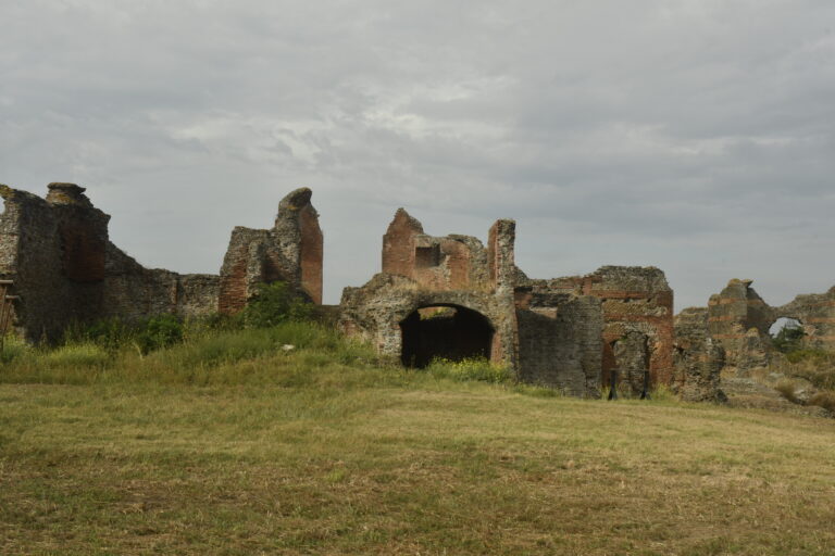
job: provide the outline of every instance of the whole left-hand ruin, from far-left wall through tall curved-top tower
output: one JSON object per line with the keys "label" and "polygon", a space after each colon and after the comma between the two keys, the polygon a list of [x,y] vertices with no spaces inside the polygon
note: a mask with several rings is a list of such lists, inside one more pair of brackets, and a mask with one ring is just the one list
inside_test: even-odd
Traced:
{"label": "whole left-hand ruin, from far-left wall through tall curved-top tower", "polygon": [[48,189],[41,199],[0,185],[0,279],[14,280],[15,327],[30,341],[110,317],[234,312],[260,281],[284,280],[322,300],[322,232],[309,189],[282,201],[272,229],[235,228],[220,276],[145,268],[110,241],[110,216],[84,188]]}

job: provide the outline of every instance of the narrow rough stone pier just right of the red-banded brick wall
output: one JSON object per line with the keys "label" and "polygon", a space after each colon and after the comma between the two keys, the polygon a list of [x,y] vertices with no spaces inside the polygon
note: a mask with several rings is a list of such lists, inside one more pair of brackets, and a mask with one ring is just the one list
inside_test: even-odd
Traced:
{"label": "narrow rough stone pier just right of the red-banded brick wall", "polygon": [[689,307],[675,317],[673,390],[688,402],[724,402],[720,388],[725,353],[708,331],[708,309]]}

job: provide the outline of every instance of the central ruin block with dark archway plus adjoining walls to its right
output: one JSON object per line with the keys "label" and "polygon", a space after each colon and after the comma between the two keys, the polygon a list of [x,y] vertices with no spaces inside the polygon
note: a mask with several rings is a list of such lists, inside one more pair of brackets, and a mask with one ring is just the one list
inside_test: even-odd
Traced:
{"label": "central ruin block with dark archway plus adjoining walls to its right", "polygon": [[[532,280],[515,266],[514,239],[513,220],[498,220],[486,247],[428,236],[400,208],[383,237],[383,271],[346,288],[340,326],[406,365],[484,355],[572,395],[598,396],[614,369],[636,393],[646,372],[672,380],[673,293],[661,270],[608,266]],[[426,318],[431,307],[454,313]],[[444,348],[450,338],[473,349]]]}

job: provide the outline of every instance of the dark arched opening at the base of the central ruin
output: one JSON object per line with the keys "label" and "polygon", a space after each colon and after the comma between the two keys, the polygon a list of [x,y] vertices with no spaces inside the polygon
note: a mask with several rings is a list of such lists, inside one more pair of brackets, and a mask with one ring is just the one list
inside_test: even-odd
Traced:
{"label": "dark arched opening at the base of the central ruin", "polygon": [[432,359],[462,361],[490,356],[494,330],[475,311],[434,305],[413,311],[400,323],[407,367],[426,367]]}

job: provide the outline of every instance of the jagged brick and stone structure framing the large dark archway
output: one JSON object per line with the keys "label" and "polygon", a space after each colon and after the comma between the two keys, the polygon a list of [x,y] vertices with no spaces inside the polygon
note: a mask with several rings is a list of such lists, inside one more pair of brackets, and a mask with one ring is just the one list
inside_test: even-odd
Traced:
{"label": "jagged brick and stone structure framing the large dark archway", "polygon": [[428,236],[399,208],[383,237],[383,273],[361,288],[344,290],[341,329],[394,357],[403,346],[401,323],[413,312],[463,307],[481,314],[493,328],[490,359],[515,368],[515,223],[498,220],[489,237],[485,249],[469,236]]}

